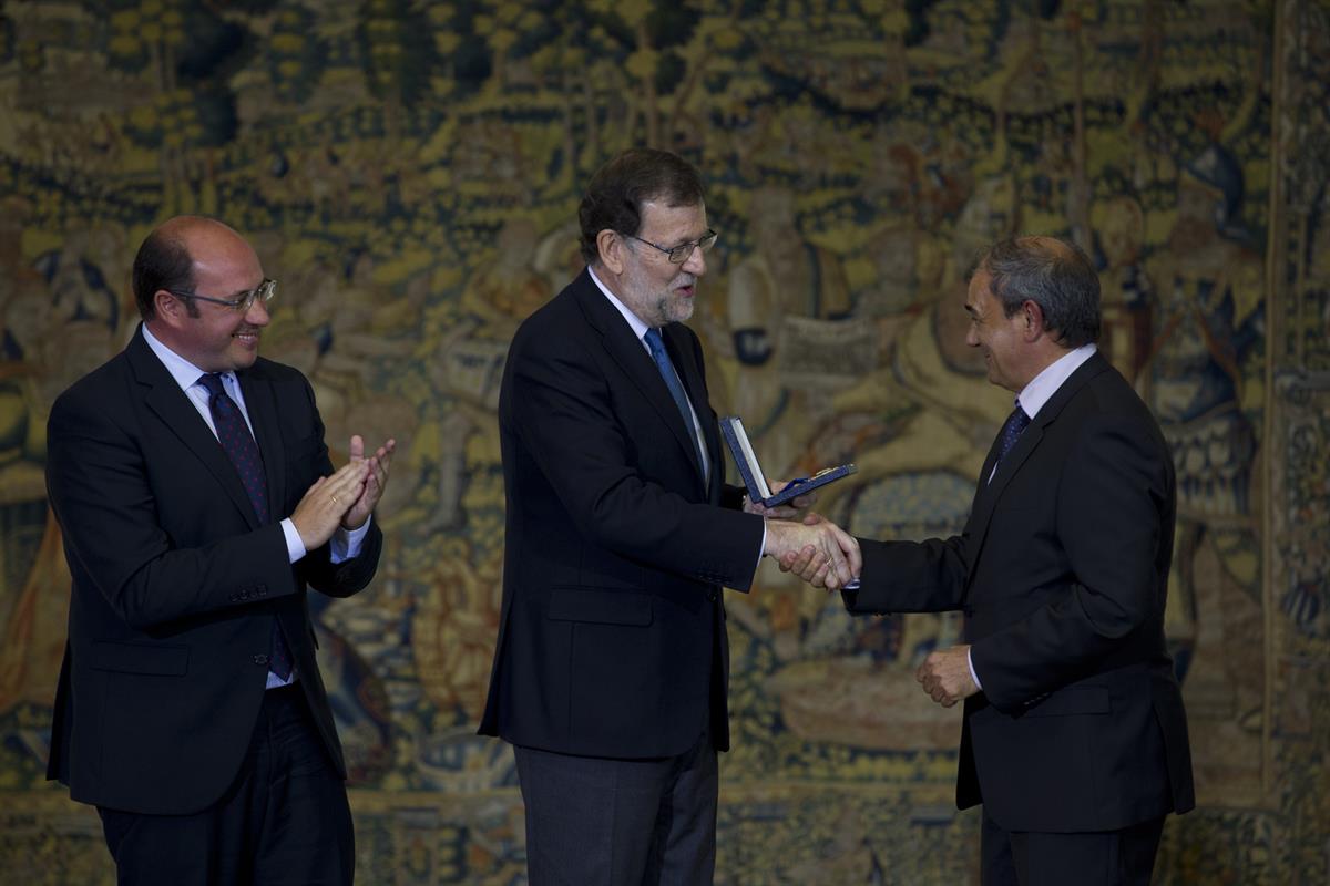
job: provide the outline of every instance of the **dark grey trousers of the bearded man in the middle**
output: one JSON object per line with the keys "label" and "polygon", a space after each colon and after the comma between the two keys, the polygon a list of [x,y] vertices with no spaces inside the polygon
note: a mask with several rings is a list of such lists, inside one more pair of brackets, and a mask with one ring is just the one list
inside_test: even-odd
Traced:
{"label": "dark grey trousers of the bearded man in the middle", "polygon": [[710,732],[676,757],[513,747],[531,886],[706,886],[720,776]]}

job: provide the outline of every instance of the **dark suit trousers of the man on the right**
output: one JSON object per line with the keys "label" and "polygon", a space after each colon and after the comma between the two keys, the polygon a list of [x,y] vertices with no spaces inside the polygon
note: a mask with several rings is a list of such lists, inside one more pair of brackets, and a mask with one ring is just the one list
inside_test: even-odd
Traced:
{"label": "dark suit trousers of the man on the right", "polygon": [[1164,818],[1079,834],[1013,832],[984,814],[983,886],[1149,886]]}

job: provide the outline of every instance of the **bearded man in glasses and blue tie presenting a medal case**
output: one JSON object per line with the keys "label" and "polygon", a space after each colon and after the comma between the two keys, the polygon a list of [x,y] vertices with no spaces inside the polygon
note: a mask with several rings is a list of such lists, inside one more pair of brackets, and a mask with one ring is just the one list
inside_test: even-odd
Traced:
{"label": "bearded man in glasses and blue tie presenting a medal case", "polygon": [[588,268],[523,323],[504,371],[504,595],[480,732],[515,745],[533,886],[696,886],[729,747],[721,587],[806,545],[849,580],[858,547],[830,523],[766,521],[722,482],[681,323],[716,242],[697,170],[625,151],[579,217]]}

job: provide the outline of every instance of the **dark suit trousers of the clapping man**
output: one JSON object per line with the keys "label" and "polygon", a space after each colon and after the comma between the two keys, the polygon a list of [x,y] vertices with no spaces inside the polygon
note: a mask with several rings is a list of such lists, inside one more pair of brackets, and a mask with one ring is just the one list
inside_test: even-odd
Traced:
{"label": "dark suit trousers of the clapping man", "polygon": [[207,809],[97,812],[121,886],[348,886],[355,874],[346,785],[298,683],[263,693],[239,776]]}

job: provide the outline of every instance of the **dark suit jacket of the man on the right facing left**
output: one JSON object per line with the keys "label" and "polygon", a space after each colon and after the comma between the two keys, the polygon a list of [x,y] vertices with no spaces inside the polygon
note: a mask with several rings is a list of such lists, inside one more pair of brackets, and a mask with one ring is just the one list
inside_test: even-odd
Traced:
{"label": "dark suit jacket of the man on the right facing left", "polygon": [[1007,830],[1113,830],[1194,805],[1164,646],[1173,461],[1101,355],[1039,410],[946,541],[863,542],[854,612],[963,610],[983,692],[956,802]]}

